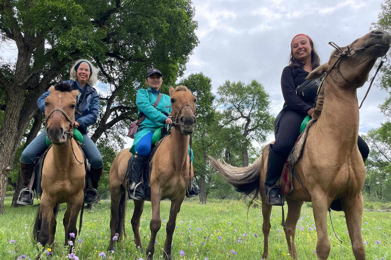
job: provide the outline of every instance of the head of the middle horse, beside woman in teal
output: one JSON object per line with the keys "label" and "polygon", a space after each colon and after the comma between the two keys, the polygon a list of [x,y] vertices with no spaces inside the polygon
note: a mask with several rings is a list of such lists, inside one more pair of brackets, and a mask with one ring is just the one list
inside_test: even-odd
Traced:
{"label": "head of the middle horse, beside woman in teal", "polygon": [[170,87],[172,115],[175,123],[180,125],[182,134],[191,135],[194,131],[197,119],[195,119],[195,102],[197,99],[185,86],[175,89]]}

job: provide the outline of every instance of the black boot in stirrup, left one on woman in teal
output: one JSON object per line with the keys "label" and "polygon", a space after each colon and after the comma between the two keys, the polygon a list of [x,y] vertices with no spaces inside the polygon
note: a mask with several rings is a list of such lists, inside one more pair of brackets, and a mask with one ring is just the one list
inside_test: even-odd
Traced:
{"label": "black boot in stirrup, left one on woman in teal", "polygon": [[[143,170],[147,163],[148,157],[140,156],[138,154],[134,155],[133,164],[131,169],[130,176],[130,194],[129,197],[133,200],[144,201],[144,185],[141,182],[141,177],[143,176]],[[135,189],[135,190],[134,190]]]}

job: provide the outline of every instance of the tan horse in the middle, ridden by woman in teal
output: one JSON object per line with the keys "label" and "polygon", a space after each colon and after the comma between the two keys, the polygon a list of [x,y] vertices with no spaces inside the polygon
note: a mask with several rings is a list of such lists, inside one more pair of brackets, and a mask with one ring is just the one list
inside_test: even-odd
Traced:
{"label": "tan horse in the middle, ridden by woman in teal", "polygon": [[[170,218],[167,222],[167,236],[164,243],[164,259],[173,259],[171,243],[175,230],[175,221],[185,198],[189,186],[189,163],[187,154],[189,137],[196,124],[195,97],[185,86],[176,89],[170,87],[172,115],[175,126],[169,136],[165,137],[158,146],[153,158],[150,176],[152,219],[150,222],[151,238],[146,250],[147,259],[153,258],[155,251],[156,234],[160,229],[160,201],[171,200]],[[127,201],[127,178],[124,177],[129,158],[132,154],[129,149],[121,151],[114,159],[110,169],[110,196],[111,196],[111,239],[110,248],[114,245],[113,238],[118,234],[125,235],[125,211]],[[193,169],[191,168],[191,178]],[[134,212],[131,219],[136,246],[141,248],[139,234],[140,217],[143,213],[144,201],[134,201]]]}

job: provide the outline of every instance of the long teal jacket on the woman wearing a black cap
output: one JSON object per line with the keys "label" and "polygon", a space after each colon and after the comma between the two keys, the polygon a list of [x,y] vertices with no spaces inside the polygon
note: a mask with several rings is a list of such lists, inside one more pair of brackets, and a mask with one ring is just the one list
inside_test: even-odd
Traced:
{"label": "long teal jacket on the woman wearing a black cap", "polygon": [[148,89],[139,89],[136,94],[136,105],[138,108],[138,116],[146,115],[145,120],[138,127],[137,134],[134,135],[134,141],[130,152],[134,154],[138,142],[150,132],[155,132],[156,129],[161,128],[165,124],[165,120],[171,114],[171,101],[170,96],[161,94],[161,98],[157,107],[152,105],[157,99],[159,91]]}

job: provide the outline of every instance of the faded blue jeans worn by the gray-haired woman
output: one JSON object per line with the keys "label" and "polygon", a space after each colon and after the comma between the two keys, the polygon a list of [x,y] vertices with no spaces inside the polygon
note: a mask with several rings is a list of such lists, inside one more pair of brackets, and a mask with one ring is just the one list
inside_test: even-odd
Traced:
{"label": "faded blue jeans worn by the gray-haired woman", "polygon": [[[82,134],[82,136],[83,144],[86,145],[83,148],[83,151],[86,154],[91,167],[95,169],[101,168],[103,166],[103,160],[98,148],[87,134]],[[46,151],[46,149],[46,132],[43,131],[23,150],[20,160],[24,164],[32,164]]]}

